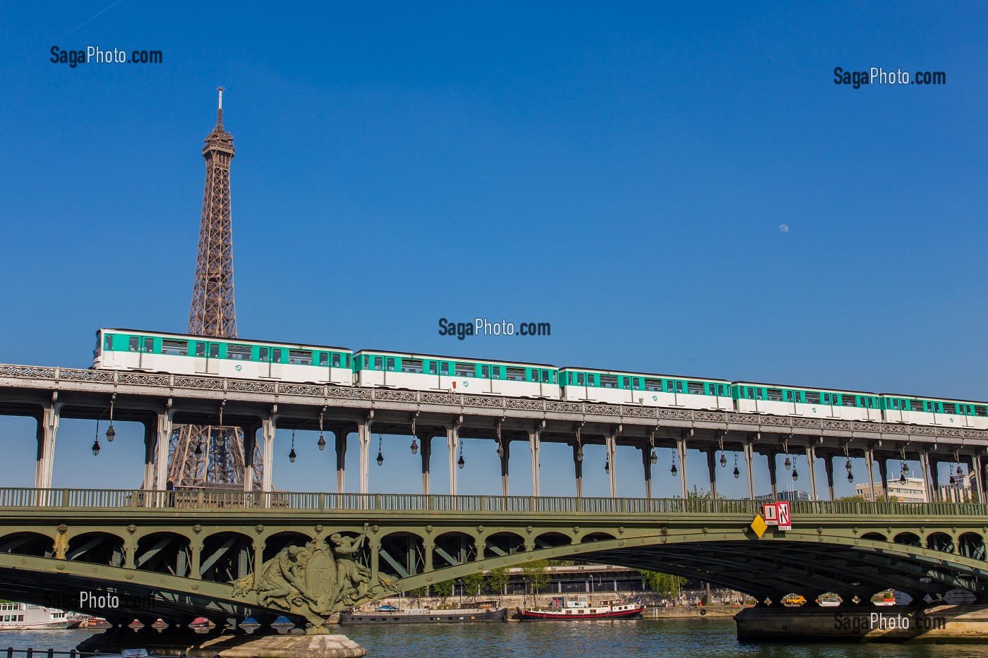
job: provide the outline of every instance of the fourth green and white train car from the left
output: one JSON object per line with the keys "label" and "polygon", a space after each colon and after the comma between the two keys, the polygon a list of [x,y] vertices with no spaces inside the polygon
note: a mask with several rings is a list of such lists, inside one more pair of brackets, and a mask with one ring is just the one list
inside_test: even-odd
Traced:
{"label": "fourth green and white train car from the left", "polygon": [[735,408],[742,413],[881,422],[881,399],[874,393],[735,381]]}

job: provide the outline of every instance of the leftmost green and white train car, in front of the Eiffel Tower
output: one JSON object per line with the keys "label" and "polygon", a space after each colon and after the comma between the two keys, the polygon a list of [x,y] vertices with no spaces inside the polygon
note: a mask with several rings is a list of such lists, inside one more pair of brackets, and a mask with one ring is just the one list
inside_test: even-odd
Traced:
{"label": "leftmost green and white train car, in front of the Eiffel Tower", "polygon": [[213,374],[353,385],[347,348],[209,338],[136,329],[96,332],[93,368],[173,374]]}

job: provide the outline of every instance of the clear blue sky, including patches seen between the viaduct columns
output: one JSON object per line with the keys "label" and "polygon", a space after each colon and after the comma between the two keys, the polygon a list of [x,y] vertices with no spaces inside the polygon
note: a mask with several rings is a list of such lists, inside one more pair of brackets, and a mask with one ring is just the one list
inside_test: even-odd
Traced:
{"label": "clear blue sky, including patches seen between the viaduct columns", "polygon": [[[0,362],[84,368],[98,327],[185,329],[223,85],[241,336],[988,399],[985,19],[977,3],[4,4]],[[52,45],[164,62],[70,68]],[[855,90],[836,66],[947,84]],[[477,316],[552,336],[438,335]],[[0,419],[0,482],[32,484],[33,425]],[[138,429],[100,457],[94,431],[63,422],[55,486],[136,485]],[[289,467],[288,441],[276,486],[332,488],[331,452]],[[372,488],[418,490],[406,443],[385,438]],[[497,492],[493,449],[465,451],[461,490]],[[603,467],[585,470],[604,494]],[[567,452],[542,472],[543,493],[571,493]]]}

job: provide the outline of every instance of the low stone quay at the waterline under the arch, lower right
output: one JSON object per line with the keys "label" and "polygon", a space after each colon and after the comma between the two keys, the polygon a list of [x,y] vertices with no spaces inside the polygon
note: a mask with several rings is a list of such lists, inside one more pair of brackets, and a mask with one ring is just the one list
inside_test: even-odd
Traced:
{"label": "low stone quay at the waterline under the arch, lower right", "polygon": [[988,640],[986,606],[756,606],[734,621],[742,642]]}

